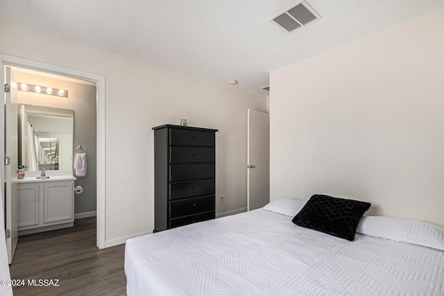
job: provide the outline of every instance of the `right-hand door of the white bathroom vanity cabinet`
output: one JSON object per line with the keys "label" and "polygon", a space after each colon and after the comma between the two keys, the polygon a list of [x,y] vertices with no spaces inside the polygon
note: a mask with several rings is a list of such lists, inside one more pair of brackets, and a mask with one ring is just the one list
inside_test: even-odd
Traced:
{"label": "right-hand door of the white bathroom vanity cabinet", "polygon": [[74,220],[74,182],[44,184],[44,223]]}

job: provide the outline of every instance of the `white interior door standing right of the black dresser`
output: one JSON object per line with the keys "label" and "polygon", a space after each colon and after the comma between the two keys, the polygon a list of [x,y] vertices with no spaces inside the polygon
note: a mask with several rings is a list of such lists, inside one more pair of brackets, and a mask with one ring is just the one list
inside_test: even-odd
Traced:
{"label": "white interior door standing right of the black dresser", "polygon": [[247,209],[270,202],[270,115],[248,109]]}

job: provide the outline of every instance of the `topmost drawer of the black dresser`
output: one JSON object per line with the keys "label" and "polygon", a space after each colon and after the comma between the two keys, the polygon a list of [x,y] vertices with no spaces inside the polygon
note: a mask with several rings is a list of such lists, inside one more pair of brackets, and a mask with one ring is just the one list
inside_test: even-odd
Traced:
{"label": "topmost drawer of the black dresser", "polygon": [[202,132],[196,130],[178,130],[171,128],[171,145],[187,146],[214,146],[214,132]]}

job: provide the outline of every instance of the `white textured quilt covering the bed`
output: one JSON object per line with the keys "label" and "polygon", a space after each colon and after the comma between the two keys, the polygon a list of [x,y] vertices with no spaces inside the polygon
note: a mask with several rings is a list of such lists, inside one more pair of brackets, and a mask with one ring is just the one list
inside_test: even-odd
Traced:
{"label": "white textured quilt covering the bed", "polygon": [[257,209],[126,243],[128,295],[444,295],[444,251]]}

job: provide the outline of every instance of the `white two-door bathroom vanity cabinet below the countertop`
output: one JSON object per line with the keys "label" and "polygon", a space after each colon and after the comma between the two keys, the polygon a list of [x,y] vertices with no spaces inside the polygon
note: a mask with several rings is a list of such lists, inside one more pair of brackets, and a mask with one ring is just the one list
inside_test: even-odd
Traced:
{"label": "white two-door bathroom vanity cabinet below the countertop", "polygon": [[19,182],[19,235],[74,226],[74,180]]}

